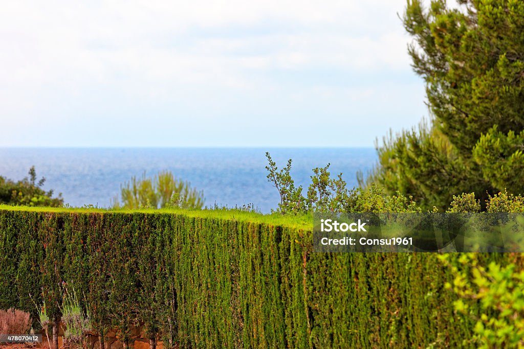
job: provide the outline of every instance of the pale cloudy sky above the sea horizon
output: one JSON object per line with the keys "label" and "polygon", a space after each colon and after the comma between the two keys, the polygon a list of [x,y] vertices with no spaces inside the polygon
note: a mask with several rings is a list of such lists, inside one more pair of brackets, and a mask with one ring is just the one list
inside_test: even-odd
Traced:
{"label": "pale cloudy sky above the sea horizon", "polygon": [[373,147],[428,114],[405,5],[6,2],[0,147]]}

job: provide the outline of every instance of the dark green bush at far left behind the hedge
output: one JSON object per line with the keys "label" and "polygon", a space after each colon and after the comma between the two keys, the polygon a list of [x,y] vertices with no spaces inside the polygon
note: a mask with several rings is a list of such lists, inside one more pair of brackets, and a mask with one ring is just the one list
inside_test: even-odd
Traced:
{"label": "dark green bush at far left behind the hedge", "polygon": [[35,166],[29,169],[29,178],[14,182],[0,176],[0,204],[7,205],[28,205],[28,206],[51,206],[59,207],[63,205],[62,194],[53,198],[53,190],[46,192],[42,189],[46,178],[41,178],[36,182]]}

